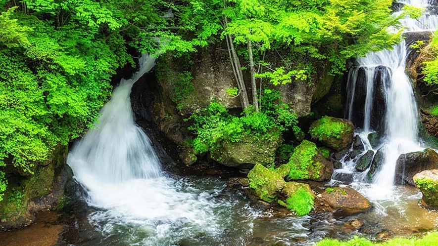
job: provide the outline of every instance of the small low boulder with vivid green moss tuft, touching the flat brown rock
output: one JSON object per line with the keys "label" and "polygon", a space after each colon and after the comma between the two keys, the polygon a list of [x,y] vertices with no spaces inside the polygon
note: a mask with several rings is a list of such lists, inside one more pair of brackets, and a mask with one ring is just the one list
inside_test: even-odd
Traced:
{"label": "small low boulder with vivid green moss tuft, touching the flat brown rock", "polygon": [[299,216],[308,214],[313,208],[315,194],[308,184],[287,182],[282,194],[287,198],[286,207]]}

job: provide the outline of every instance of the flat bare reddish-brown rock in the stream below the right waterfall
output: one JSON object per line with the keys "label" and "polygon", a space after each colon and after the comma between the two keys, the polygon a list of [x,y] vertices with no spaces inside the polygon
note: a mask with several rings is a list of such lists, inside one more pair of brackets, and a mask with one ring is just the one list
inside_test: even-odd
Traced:
{"label": "flat bare reddish-brown rock in the stream below the right waterfall", "polygon": [[346,214],[363,212],[371,208],[370,202],[359,192],[349,187],[327,188],[321,199],[332,208]]}

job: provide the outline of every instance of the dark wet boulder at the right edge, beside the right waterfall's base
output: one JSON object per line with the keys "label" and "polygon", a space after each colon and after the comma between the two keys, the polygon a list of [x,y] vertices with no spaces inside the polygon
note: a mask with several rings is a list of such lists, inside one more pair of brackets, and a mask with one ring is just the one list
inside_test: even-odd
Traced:
{"label": "dark wet boulder at the right edge, beside the right waterfall's base", "polygon": [[413,177],[424,170],[438,168],[438,153],[432,149],[402,154],[395,166],[395,183],[415,185]]}

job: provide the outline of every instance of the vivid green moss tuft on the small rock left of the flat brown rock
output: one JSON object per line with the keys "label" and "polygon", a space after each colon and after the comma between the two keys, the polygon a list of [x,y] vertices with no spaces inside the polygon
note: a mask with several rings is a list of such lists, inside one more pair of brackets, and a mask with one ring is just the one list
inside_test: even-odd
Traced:
{"label": "vivid green moss tuft on the small rock left of the flat brown rock", "polygon": [[287,208],[295,211],[298,216],[308,214],[313,208],[313,196],[303,188],[299,188],[286,200]]}

